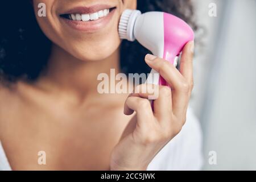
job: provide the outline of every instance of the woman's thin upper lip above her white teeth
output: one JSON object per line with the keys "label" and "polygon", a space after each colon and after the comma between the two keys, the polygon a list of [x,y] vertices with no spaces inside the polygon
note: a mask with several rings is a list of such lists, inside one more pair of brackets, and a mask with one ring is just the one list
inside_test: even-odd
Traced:
{"label": "woman's thin upper lip above her white teeth", "polygon": [[92,14],[105,9],[112,9],[113,7],[115,6],[110,6],[110,5],[94,5],[89,7],[80,6],[80,7],[75,7],[71,10],[68,10],[62,14]]}

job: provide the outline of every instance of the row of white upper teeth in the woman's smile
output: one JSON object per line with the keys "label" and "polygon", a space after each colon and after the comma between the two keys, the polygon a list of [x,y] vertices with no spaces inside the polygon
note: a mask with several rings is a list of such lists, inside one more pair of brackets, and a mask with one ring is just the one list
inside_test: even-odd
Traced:
{"label": "row of white upper teeth in the woman's smile", "polygon": [[92,14],[71,14],[69,15],[69,18],[72,20],[76,20],[76,21],[84,21],[87,22],[89,20],[97,20],[99,18],[102,18],[106,15],[109,14],[109,9],[105,9],[105,10],[100,10],[96,13],[92,13]]}

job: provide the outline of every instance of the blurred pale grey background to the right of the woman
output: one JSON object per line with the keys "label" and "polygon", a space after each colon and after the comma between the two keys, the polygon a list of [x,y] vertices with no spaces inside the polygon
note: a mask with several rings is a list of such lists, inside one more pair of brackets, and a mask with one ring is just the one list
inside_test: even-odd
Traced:
{"label": "blurred pale grey background to the right of the woman", "polygon": [[[255,0],[193,1],[205,29],[191,101],[204,134],[203,169],[256,170]],[[208,15],[210,3],[217,17]],[[216,165],[209,151],[216,151]]]}

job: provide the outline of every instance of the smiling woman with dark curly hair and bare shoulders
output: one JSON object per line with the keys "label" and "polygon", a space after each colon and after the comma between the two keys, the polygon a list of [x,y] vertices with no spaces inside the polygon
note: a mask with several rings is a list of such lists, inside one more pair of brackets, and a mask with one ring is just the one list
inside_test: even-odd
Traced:
{"label": "smiling woman with dark curly hair and bare shoulders", "polygon": [[[3,13],[13,7],[3,4]],[[123,10],[137,7],[192,23],[191,2],[34,0],[15,7],[1,30],[0,169],[200,169],[200,127],[187,111],[193,42],[179,72],[152,55],[142,61],[147,52],[136,42],[120,47],[117,31]],[[85,21],[101,10],[101,18]],[[160,86],[154,111],[148,93],[97,92],[100,73],[147,73],[146,65],[171,85]]]}

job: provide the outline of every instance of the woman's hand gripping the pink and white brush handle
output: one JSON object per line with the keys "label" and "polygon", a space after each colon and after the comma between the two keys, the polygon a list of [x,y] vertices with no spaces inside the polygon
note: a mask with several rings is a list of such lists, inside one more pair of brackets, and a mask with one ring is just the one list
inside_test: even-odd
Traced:
{"label": "woman's hand gripping the pink and white brush handle", "polygon": [[[130,94],[125,102],[124,113],[134,115],[135,125],[130,133],[115,146],[110,160],[112,170],[146,170],[154,156],[183,127],[189,98],[193,88],[194,43],[185,45],[180,61],[180,72],[166,60],[147,55],[146,63],[167,81],[159,86],[159,97],[152,110],[148,96],[152,93]],[[142,90],[146,85],[139,85]]]}

